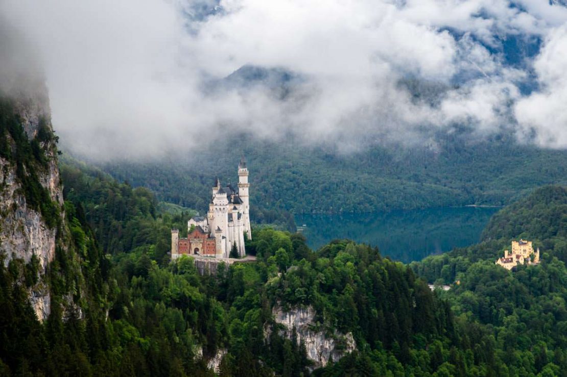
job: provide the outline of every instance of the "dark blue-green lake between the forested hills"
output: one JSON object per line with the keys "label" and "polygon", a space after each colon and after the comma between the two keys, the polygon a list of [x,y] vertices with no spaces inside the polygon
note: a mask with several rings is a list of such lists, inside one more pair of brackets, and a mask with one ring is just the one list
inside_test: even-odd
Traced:
{"label": "dark blue-green lake between the forested hills", "polygon": [[401,262],[479,242],[490,216],[499,208],[430,208],[412,211],[298,215],[312,249],[332,239],[349,238],[378,246],[382,255]]}

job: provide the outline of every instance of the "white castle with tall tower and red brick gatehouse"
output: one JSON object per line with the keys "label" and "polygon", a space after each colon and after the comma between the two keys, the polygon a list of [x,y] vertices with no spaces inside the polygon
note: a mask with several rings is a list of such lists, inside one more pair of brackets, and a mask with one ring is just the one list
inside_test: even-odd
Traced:
{"label": "white castle with tall tower and red brick gatehouse", "polygon": [[244,157],[238,165],[238,188],[222,187],[217,178],[212,190],[207,217],[193,217],[187,222],[187,238],[179,238],[179,230],[171,230],[171,259],[180,255],[204,255],[229,258],[236,246],[244,256],[244,232],[250,231],[250,204],[248,202],[248,169]]}

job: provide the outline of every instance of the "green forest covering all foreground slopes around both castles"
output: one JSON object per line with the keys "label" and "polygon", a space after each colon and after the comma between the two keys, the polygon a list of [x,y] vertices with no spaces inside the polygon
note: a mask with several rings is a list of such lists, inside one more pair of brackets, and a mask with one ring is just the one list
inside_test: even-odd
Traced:
{"label": "green forest covering all foreground slopes around both castles", "polygon": [[[2,158],[25,168],[21,182],[33,188],[43,155],[20,119],[0,122],[10,141]],[[422,262],[349,240],[314,251],[303,235],[263,225],[246,240],[256,262],[201,275],[192,258],[168,255],[170,229],[183,232],[194,211],[77,161],[61,164],[61,178],[62,220],[52,202],[42,211],[40,189],[24,189],[47,226],[56,220],[45,274],[33,256],[0,252],[0,375],[567,375],[565,187],[502,209],[479,245]],[[540,247],[541,263],[495,265],[519,237]],[[37,284],[50,292],[44,322],[29,302]],[[314,312],[310,331],[356,347],[316,367],[299,333],[276,320],[297,308]]]}

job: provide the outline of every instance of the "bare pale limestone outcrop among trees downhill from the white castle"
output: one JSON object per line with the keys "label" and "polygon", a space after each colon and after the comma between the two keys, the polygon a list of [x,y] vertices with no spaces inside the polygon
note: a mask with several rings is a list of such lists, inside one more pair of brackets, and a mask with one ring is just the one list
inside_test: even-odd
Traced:
{"label": "bare pale limestone outcrop among trees downhill from the white castle", "polygon": [[356,349],[352,333],[335,332],[327,336],[322,330],[314,330],[315,310],[311,306],[294,308],[289,311],[282,311],[276,306],[272,314],[276,323],[284,325],[284,336],[291,339],[295,328],[298,344],[303,342],[305,345],[307,358],[314,362],[314,369],[324,367],[331,360],[337,361]]}

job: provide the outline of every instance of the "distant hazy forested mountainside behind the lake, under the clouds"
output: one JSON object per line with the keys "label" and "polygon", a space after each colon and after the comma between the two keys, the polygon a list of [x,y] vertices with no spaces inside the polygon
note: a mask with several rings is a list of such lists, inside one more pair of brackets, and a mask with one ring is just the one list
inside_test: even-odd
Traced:
{"label": "distant hazy forested mountainside behind the lake, under the clouds", "polygon": [[[226,153],[235,144],[239,150]],[[150,188],[160,200],[202,212],[215,175],[236,182],[243,153],[252,214],[259,208],[331,213],[501,205],[534,187],[567,183],[565,151],[521,145],[506,135],[478,140],[460,130],[411,146],[370,143],[348,153],[334,145],[302,145],[301,140],[262,142],[242,135],[192,151],[191,157],[100,166],[119,181]]]}

